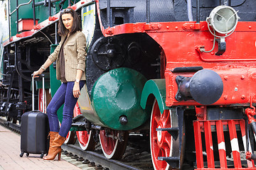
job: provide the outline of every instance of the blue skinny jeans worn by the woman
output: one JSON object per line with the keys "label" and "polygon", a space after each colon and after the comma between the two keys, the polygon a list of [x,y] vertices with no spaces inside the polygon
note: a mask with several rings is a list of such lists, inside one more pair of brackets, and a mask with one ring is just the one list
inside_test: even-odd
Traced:
{"label": "blue skinny jeans worn by the woman", "polygon": [[[46,108],[46,113],[48,114],[49,119],[50,131],[59,132],[59,135],[62,137],[66,137],[68,135],[72,124],[75,103],[77,103],[78,101],[78,98],[75,98],[73,96],[74,84],[74,81],[68,81],[68,83],[61,84],[58,91],[56,91],[48,107]],[[85,85],[85,81],[80,81],[79,85],[81,90],[82,86]],[[61,123],[61,126],[59,126],[57,111],[60,106],[63,105],[63,103],[63,121]]]}

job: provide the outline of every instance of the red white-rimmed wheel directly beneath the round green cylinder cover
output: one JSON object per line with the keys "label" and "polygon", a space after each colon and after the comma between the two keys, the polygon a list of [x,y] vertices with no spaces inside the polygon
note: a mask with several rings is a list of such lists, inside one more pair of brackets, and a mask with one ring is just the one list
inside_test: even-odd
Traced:
{"label": "red white-rimmed wheel directly beneath the round green cylinder cover", "polygon": [[[107,159],[122,159],[122,155],[127,147],[129,133],[122,131],[122,141],[117,140],[119,131],[117,130],[100,130],[100,146]],[[120,134],[121,135],[121,134]]]}

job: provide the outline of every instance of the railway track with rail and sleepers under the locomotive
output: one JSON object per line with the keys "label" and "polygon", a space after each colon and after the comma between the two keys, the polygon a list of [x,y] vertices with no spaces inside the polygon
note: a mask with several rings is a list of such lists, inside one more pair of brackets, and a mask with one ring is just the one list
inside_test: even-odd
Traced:
{"label": "railway track with rail and sleepers under the locomotive", "polygon": [[[0,125],[20,134],[21,127],[18,124],[6,122],[5,118],[0,118]],[[139,136],[130,136],[131,141],[127,145],[127,150],[120,161],[107,159],[102,154],[100,145],[97,145],[95,152],[83,151],[78,142],[75,145],[63,145],[63,159],[72,164],[87,164],[90,169],[109,170],[153,170],[149,151],[149,140]],[[137,141],[137,142],[134,142]],[[67,154],[68,153],[68,154]],[[69,158],[68,158],[69,156]],[[74,163],[76,161],[76,163]],[[81,169],[87,169],[82,168]]]}

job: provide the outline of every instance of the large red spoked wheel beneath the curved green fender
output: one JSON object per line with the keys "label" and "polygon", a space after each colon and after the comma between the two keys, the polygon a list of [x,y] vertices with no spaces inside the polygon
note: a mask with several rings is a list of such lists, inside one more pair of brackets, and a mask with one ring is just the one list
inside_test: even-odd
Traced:
{"label": "large red spoked wheel beneath the curved green fender", "polygon": [[165,110],[161,114],[157,101],[154,102],[150,120],[151,159],[154,169],[171,169],[167,162],[158,160],[158,157],[171,157],[171,135],[167,131],[156,131],[156,128],[171,128],[170,111]]}

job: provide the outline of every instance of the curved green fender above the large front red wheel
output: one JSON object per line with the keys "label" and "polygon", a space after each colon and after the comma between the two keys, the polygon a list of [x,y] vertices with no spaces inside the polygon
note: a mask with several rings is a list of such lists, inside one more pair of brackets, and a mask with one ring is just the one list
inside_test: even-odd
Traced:
{"label": "curved green fender above the large front red wheel", "polygon": [[142,91],[141,106],[143,109],[146,108],[147,100],[149,95],[153,94],[156,98],[157,103],[159,104],[159,109],[161,113],[164,113],[164,110],[169,110],[170,108],[166,106],[166,82],[165,79],[151,79],[146,81],[146,84]]}

